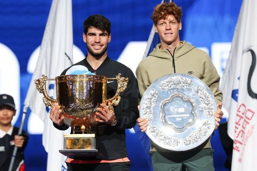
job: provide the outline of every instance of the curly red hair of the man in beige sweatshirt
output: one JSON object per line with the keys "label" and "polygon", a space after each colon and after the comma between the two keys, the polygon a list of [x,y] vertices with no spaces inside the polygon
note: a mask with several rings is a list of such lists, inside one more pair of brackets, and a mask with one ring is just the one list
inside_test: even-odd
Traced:
{"label": "curly red hair of the man in beige sweatshirt", "polygon": [[165,19],[168,15],[173,15],[177,22],[181,21],[182,10],[181,7],[178,7],[175,3],[162,3],[155,6],[152,20],[154,25],[157,25],[158,21],[161,19]]}

